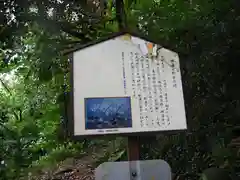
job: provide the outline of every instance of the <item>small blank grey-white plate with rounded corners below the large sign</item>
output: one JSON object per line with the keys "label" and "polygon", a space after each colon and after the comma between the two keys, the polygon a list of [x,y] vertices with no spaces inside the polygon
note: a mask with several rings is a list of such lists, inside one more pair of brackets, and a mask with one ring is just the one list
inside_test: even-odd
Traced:
{"label": "small blank grey-white plate with rounded corners below the large sign", "polygon": [[171,180],[171,168],[163,160],[105,162],[95,170],[96,180]]}

